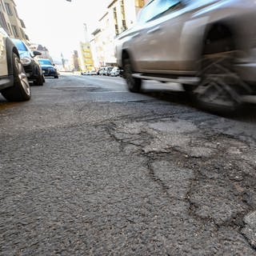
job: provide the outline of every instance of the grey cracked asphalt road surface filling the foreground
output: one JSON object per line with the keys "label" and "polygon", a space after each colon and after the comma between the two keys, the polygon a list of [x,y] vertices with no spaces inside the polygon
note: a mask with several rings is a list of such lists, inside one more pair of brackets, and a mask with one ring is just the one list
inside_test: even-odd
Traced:
{"label": "grey cracked asphalt road surface filling the foreground", "polygon": [[0,98],[1,255],[256,255],[254,106],[145,88],[67,74]]}

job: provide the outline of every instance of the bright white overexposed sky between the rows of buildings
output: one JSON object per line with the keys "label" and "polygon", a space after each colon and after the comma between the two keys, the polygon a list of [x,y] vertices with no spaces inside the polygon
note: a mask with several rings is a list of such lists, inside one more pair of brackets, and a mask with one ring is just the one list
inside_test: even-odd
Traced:
{"label": "bright white overexposed sky between the rows of buildings", "polygon": [[70,58],[88,35],[98,27],[110,0],[14,0],[19,18],[25,22],[32,43],[46,46],[54,59]]}

